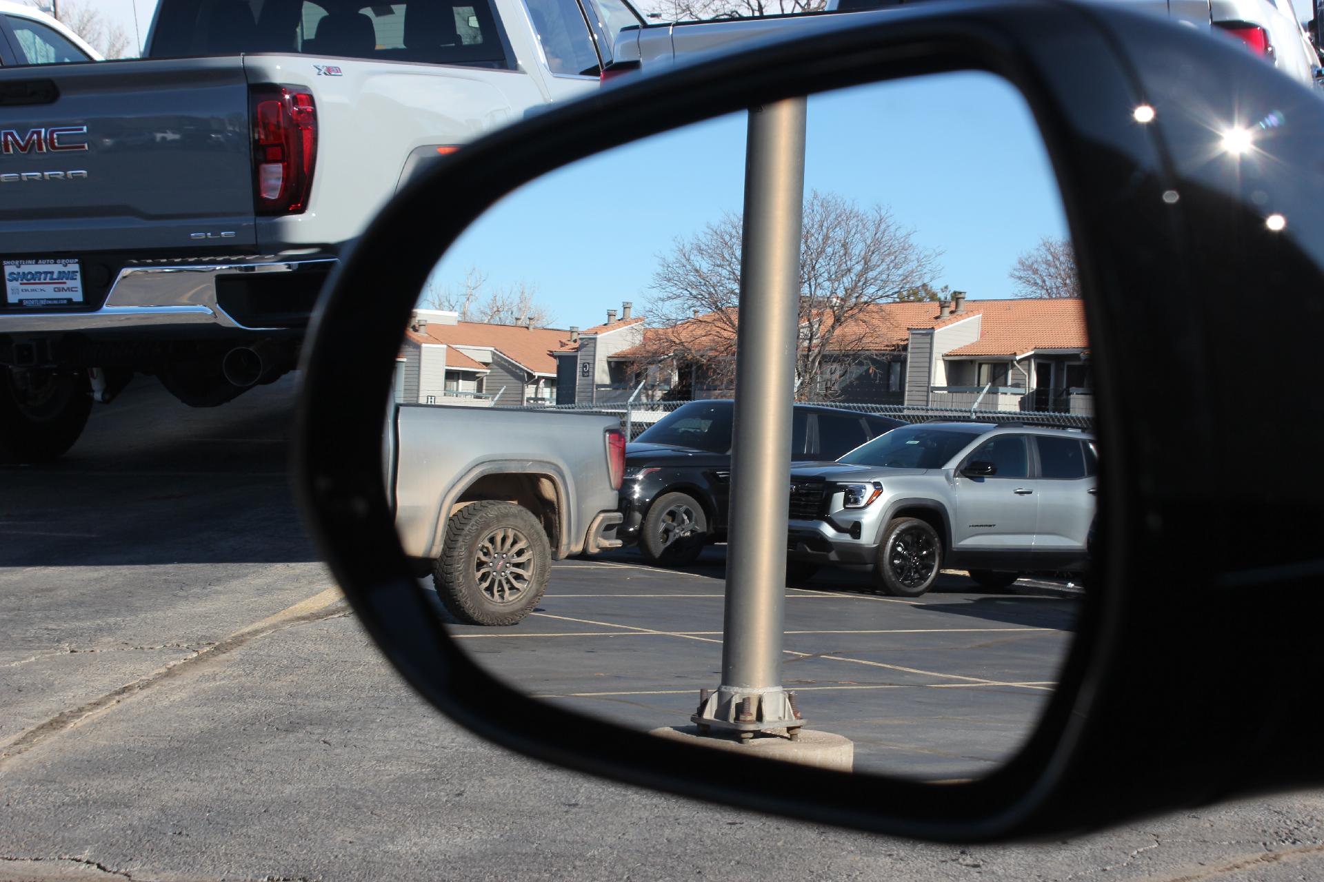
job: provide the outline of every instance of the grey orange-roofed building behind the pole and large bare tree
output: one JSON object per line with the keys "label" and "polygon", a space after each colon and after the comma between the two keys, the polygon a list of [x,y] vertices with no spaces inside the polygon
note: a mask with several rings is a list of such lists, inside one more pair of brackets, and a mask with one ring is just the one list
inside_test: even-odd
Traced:
{"label": "grey orange-roofed building behind the pole and large bare tree", "polygon": [[[731,394],[733,312],[696,315],[667,328],[639,328],[637,341],[606,356],[617,394],[647,378],[671,398]],[[822,397],[911,407],[1092,411],[1088,339],[1078,299],[883,303],[838,329]],[[557,352],[564,364],[576,344]],[[831,362],[835,362],[833,366]],[[596,372],[596,377],[604,372]],[[557,402],[580,401],[559,387]],[[816,397],[816,395],[810,395]]]}

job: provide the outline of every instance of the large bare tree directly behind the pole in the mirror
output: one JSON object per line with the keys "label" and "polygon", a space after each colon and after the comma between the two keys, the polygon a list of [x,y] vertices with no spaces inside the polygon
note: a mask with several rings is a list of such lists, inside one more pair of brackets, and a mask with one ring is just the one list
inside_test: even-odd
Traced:
{"label": "large bare tree directly behind the pole in the mirror", "polygon": [[[733,385],[740,296],[741,218],[727,213],[679,238],[653,275],[654,360],[702,365],[715,385]],[[800,242],[797,397],[830,397],[850,369],[878,350],[879,303],[929,284],[939,253],[923,249],[891,212],[817,190],[805,200]],[[869,313],[869,315],[866,315]],[[867,320],[866,320],[867,319]]]}

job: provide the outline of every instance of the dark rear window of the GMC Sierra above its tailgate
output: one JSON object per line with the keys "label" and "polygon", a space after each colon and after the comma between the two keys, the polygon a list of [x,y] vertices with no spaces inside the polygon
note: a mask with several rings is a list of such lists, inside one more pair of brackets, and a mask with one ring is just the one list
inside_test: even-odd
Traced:
{"label": "dark rear window of the GMC Sierra above its tailgate", "polygon": [[511,66],[491,0],[162,0],[148,54],[257,52]]}

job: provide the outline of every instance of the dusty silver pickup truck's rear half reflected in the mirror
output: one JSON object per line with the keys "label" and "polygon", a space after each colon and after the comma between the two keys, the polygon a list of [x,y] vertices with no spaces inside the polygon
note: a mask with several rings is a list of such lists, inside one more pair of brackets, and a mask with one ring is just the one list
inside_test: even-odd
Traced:
{"label": "dusty silver pickup truck's rear half reflected in the mirror", "polygon": [[553,559],[621,545],[617,417],[395,405],[383,463],[405,554],[465,624],[518,623]]}

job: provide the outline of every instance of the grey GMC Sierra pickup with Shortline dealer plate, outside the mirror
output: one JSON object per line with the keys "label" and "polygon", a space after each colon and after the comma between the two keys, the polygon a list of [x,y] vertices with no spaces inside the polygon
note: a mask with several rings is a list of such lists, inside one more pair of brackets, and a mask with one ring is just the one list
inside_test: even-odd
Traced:
{"label": "grey GMC Sierra pickup with Shortline dealer plate, outside the mirror", "polygon": [[193,406],[275,380],[400,186],[597,89],[639,21],[622,0],[162,0],[146,58],[95,61],[29,52],[0,15],[0,463],[60,456],[135,373]]}

